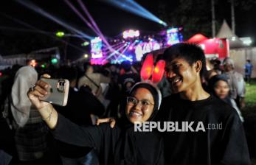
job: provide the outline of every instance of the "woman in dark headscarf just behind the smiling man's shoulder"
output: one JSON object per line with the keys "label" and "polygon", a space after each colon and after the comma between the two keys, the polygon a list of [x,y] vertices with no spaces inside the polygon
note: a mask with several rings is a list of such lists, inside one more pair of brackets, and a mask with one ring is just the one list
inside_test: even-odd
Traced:
{"label": "woman in dark headscarf just behind the smiling man's shoulder", "polygon": [[241,111],[235,103],[235,100],[229,96],[229,84],[227,78],[224,74],[215,75],[209,80],[209,89],[210,93],[218,98],[222,99],[224,102],[232,106],[237,112],[241,119],[241,122],[244,122]]}

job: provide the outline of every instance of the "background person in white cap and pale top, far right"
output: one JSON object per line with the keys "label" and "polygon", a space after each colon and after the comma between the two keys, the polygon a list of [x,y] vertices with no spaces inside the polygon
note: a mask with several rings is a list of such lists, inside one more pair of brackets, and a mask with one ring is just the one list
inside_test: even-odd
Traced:
{"label": "background person in white cap and pale top, far right", "polygon": [[245,95],[246,95],[246,83],[243,80],[243,75],[238,73],[235,69],[234,61],[226,57],[224,59],[224,74],[229,82],[230,96],[235,99],[238,108],[244,108],[246,105]]}

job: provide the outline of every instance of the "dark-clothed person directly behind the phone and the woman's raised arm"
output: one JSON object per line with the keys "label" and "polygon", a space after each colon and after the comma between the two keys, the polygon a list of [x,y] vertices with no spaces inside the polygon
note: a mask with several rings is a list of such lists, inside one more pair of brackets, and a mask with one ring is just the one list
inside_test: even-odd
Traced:
{"label": "dark-clothed person directly behind the phone and the woman's raised arm", "polygon": [[[69,80],[69,96],[67,105],[54,108],[58,113],[65,116],[70,121],[80,126],[92,125],[91,114],[102,116],[105,109],[103,104],[91,94],[91,91],[81,86],[78,90],[75,85],[77,82],[77,70],[72,67],[63,66],[58,71],[58,77]],[[97,165],[97,154],[91,147],[77,147],[57,141],[57,148],[63,165]]]}

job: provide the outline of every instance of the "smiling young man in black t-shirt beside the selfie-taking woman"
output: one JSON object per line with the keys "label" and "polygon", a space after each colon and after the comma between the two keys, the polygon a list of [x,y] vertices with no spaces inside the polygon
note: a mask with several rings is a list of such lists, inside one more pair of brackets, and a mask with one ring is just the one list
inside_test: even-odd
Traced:
{"label": "smiling young man in black t-shirt beside the selfie-taking woman", "polygon": [[[188,122],[198,132],[162,133],[167,164],[250,164],[243,126],[232,107],[208,94],[201,85],[206,71],[204,52],[189,43],[166,49],[166,77],[173,95],[166,97],[158,121]],[[196,129],[195,129],[196,130]]]}

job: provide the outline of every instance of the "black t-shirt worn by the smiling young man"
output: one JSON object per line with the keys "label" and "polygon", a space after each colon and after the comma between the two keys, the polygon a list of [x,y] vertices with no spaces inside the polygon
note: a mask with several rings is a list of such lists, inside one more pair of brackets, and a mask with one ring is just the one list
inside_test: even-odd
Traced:
{"label": "black t-shirt worn by the smiling young man", "polygon": [[[250,164],[238,114],[214,96],[193,102],[181,99],[179,94],[168,96],[156,120],[176,122],[179,128],[182,122],[193,122],[195,132],[162,133],[167,164]],[[196,132],[199,122],[205,131]]]}

